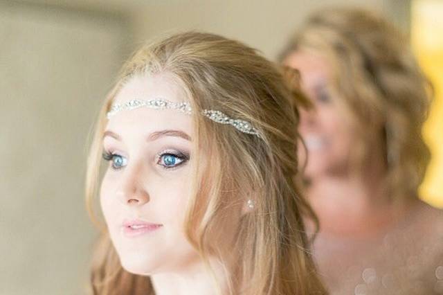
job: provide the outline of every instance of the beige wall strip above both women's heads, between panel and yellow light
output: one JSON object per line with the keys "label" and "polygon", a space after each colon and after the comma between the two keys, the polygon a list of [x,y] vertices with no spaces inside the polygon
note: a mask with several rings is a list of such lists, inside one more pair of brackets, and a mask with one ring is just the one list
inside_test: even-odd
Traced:
{"label": "beige wall strip above both women's heads, between panel and yellow light", "polygon": [[[408,0],[225,0],[152,1],[135,12],[137,41],[163,32],[205,30],[242,40],[275,58],[282,44],[309,12],[334,5],[365,7],[386,14],[399,25],[407,24]],[[395,8],[395,10],[393,10]],[[400,8],[403,8],[401,10]]]}

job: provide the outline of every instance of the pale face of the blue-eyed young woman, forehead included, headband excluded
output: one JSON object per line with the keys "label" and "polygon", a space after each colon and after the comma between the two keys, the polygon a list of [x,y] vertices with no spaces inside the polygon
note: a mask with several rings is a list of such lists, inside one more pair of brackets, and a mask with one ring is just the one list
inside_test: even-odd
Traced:
{"label": "pale face of the blue-eyed young woman, forehead included, headband excluded", "polygon": [[[136,76],[115,98],[182,102],[169,75]],[[192,119],[174,109],[123,110],[103,138],[109,166],[100,202],[120,261],[134,274],[180,271],[197,261],[183,232],[192,180]]]}

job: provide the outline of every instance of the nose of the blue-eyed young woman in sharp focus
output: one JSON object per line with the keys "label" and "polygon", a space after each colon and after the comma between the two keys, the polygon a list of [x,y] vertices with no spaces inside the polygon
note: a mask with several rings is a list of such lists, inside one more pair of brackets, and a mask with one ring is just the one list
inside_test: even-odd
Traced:
{"label": "nose of the blue-eyed young woman in sharp focus", "polygon": [[117,191],[118,198],[122,204],[127,206],[142,206],[150,201],[150,195],[145,188],[144,175],[141,168],[129,168],[127,166],[120,190]]}

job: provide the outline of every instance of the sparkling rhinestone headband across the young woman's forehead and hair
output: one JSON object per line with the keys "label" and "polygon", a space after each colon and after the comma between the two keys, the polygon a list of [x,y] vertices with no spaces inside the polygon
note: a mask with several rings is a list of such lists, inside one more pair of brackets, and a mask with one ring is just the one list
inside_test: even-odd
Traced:
{"label": "sparkling rhinestone headband across the young woman's forehead and hair", "polygon": [[[185,114],[191,114],[192,112],[192,108],[188,102],[171,102],[169,100],[157,98],[153,100],[130,100],[123,104],[114,104],[111,106],[111,109],[107,112],[106,116],[109,119],[119,111],[138,109],[140,107],[149,107],[150,109],[177,109]],[[245,120],[233,119],[221,111],[214,111],[212,109],[204,109],[201,111],[201,114],[216,123],[232,125],[240,132],[261,137],[257,129]]]}

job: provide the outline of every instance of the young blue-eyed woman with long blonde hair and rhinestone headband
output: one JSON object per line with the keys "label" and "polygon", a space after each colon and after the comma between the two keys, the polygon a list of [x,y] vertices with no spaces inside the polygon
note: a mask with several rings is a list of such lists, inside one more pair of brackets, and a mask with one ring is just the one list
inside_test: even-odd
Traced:
{"label": "young blue-eyed woman with long blonde hair and rhinestone headband", "polygon": [[325,294],[292,180],[297,123],[280,69],[239,42],[183,33],[138,50],[89,157],[89,208],[109,161],[93,294]]}

